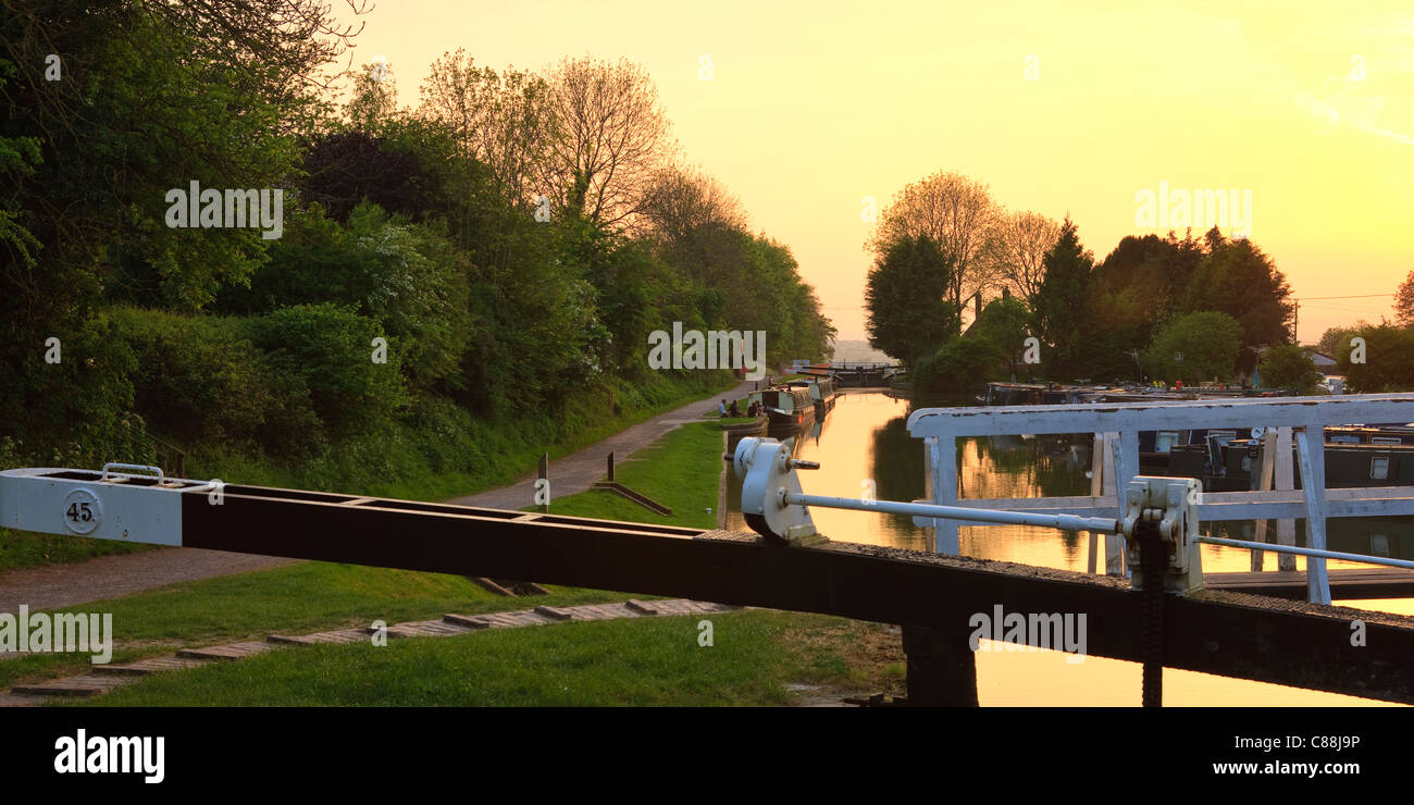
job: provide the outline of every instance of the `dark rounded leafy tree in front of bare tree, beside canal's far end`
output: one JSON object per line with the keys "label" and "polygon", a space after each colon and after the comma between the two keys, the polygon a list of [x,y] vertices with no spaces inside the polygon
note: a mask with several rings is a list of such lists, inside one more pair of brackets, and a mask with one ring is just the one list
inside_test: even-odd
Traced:
{"label": "dark rounded leafy tree in front of bare tree, beside canal's far end", "polygon": [[870,269],[864,328],[870,347],[912,364],[957,331],[946,299],[949,260],[928,235],[904,236]]}

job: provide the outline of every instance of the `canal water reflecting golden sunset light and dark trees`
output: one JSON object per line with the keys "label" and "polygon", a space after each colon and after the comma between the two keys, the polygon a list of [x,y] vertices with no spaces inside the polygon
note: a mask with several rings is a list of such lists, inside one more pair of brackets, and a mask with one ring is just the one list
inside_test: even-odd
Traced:
{"label": "canal water reflecting golden sunset light and dark trees", "polygon": [[[937,400],[929,406],[967,405],[963,400]],[[800,436],[773,434],[792,440],[795,456],[819,461],[819,470],[800,473],[810,494],[858,498],[871,487],[880,499],[912,501],[926,497],[926,460],[923,443],[908,434],[906,399],[884,392],[846,389],[834,409]],[[735,444],[731,444],[735,448]],[[987,437],[959,440],[962,467],[959,481],[963,498],[1087,495],[1090,491],[1089,439]],[[728,475],[727,528],[745,529],[741,516],[741,480]],[[912,518],[872,512],[812,508],[810,515],[822,533],[841,542],[888,545],[929,550],[928,529],[916,528]],[[1391,522],[1398,519],[1401,522]],[[1345,522],[1332,529],[1333,550],[1370,553],[1372,539],[1379,552],[1414,557],[1414,523],[1406,518],[1373,518]],[[1274,523],[1273,523],[1274,525]],[[1219,523],[1217,528],[1225,528]],[[1250,536],[1247,525],[1233,523],[1232,536]],[[1246,531],[1240,531],[1246,529]],[[1274,528],[1273,528],[1274,531]],[[1302,542],[1304,523],[1297,523],[1297,543]],[[1029,526],[964,526],[959,535],[962,553],[981,559],[1018,562],[1063,570],[1085,572],[1089,560],[1087,535]],[[1270,539],[1270,538],[1268,538]],[[1103,570],[1104,549],[1099,546]],[[1247,550],[1202,546],[1203,569],[1209,572],[1250,570]],[[1277,556],[1266,553],[1264,567],[1274,570]],[[1297,557],[1298,569],[1305,560]],[[1335,567],[1362,567],[1328,562]],[[1414,614],[1414,598],[1335,601],[1338,606]],[[1005,604],[1005,601],[998,601]],[[1003,651],[1004,644],[981,641],[977,654],[977,695],[983,706],[1137,706],[1140,703],[1140,665],[1118,659],[1077,656],[1053,651]],[[987,651],[995,649],[995,651]],[[1383,702],[1356,699],[1212,676],[1188,671],[1164,671],[1167,706],[1379,706]]]}

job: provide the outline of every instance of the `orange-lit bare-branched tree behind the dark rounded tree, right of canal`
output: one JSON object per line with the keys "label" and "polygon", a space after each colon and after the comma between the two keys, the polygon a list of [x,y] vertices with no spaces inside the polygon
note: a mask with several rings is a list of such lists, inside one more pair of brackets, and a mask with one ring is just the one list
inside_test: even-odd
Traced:
{"label": "orange-lit bare-branched tree behind the dark rounded tree, right of canal", "polygon": [[[949,255],[945,276],[954,310],[997,283],[997,263],[987,259],[988,232],[998,215],[987,185],[956,173],[939,171],[899,191],[880,219],[870,242],[882,256],[904,238],[926,235]],[[956,332],[962,332],[962,318]]]}

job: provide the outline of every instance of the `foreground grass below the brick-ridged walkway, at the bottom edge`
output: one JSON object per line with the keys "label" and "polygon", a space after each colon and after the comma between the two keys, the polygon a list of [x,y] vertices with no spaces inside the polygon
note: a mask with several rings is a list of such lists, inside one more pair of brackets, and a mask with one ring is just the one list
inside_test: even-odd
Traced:
{"label": "foreground grass below the brick-ridged walkway, at the bottom edge", "polygon": [[[713,645],[699,645],[699,622]],[[158,673],[96,706],[788,705],[786,683],[871,690],[870,624],[775,611],[568,622],[296,647]]]}

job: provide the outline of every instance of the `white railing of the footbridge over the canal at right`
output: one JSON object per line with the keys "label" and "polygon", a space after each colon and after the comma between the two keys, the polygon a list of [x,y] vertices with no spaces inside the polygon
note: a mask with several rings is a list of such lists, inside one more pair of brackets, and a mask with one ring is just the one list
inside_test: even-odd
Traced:
{"label": "white railing of the footbridge over the canal at right", "polygon": [[[1079,403],[1001,407],[919,409],[908,419],[908,430],[922,437],[929,461],[932,502],[986,509],[1011,509],[1034,514],[1068,512],[1077,516],[1118,516],[1123,490],[1138,474],[1138,433],[1141,430],[1192,430],[1220,427],[1274,429],[1278,467],[1277,490],[1244,492],[1206,492],[1198,504],[1199,521],[1253,521],[1305,518],[1307,591],[1315,603],[1331,603],[1326,573],[1326,519],[1349,516],[1414,515],[1414,487],[1325,488],[1326,426],[1350,423],[1414,422],[1414,393],[1343,395],[1315,398],[1241,398],[1182,402]],[[1068,434],[1093,433],[1103,450],[1106,473],[1103,488],[1092,487],[1090,495],[1066,498],[988,498],[957,499],[957,439],[971,436]],[[1301,463],[1302,490],[1292,491],[1290,444],[1295,436]],[[946,457],[946,458],[945,458]],[[1267,480],[1263,478],[1266,482]],[[1096,484],[1099,480],[1096,480]],[[936,550],[956,555],[957,519],[916,516],[918,525],[936,529]],[[1092,532],[1092,540],[1094,539]],[[1111,542],[1113,539],[1113,542]],[[1205,539],[1208,542],[1208,539]],[[1285,542],[1284,539],[1278,539]],[[1273,543],[1256,543],[1264,550],[1297,553]],[[1092,556],[1094,542],[1092,542]],[[1106,538],[1107,570],[1124,572],[1121,536]]]}

